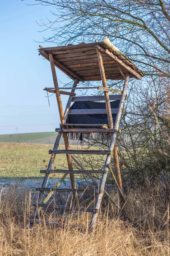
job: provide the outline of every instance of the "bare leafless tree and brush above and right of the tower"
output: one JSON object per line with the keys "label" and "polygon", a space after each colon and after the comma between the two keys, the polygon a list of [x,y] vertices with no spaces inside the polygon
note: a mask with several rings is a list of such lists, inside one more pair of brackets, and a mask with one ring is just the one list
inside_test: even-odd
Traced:
{"label": "bare leafless tree and brush above and right of the tower", "polygon": [[[75,44],[108,36],[144,73],[132,80],[122,118],[119,153],[126,170],[159,175],[169,167],[170,1],[34,0],[51,5],[54,20],[39,24],[52,33],[46,42]],[[121,87],[114,82],[114,87]],[[108,86],[113,86],[108,81]],[[94,145],[99,142],[94,141]],[[103,146],[103,145],[102,145]],[[137,171],[136,171],[137,170]]]}

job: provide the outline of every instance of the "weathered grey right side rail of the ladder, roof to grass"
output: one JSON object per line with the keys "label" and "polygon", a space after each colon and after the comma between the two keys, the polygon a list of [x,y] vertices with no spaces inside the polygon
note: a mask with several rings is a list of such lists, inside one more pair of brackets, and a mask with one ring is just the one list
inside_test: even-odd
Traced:
{"label": "weathered grey right side rail of the ladder, roof to grass", "polygon": [[[130,77],[130,74],[127,71],[126,72],[126,79],[125,79],[125,83],[124,83],[124,87],[123,87],[123,91],[122,91],[122,99],[120,100],[120,103],[119,103],[118,113],[117,113],[116,121],[115,121],[115,125],[114,125],[115,129],[119,128],[119,122],[120,122],[120,118],[121,118],[121,114],[122,114],[122,108],[123,108],[123,105],[124,105],[124,102],[125,102],[125,96],[126,96],[129,77]],[[114,145],[116,143],[116,135],[117,135],[116,133],[112,134],[109,150],[113,150],[113,148],[114,148]],[[98,209],[98,210],[100,208],[100,204],[101,204],[102,197],[103,197],[103,194],[104,194],[105,183],[106,183],[106,178],[107,178],[107,174],[108,174],[108,166],[109,166],[110,161],[111,161],[111,155],[107,155],[106,161],[105,161],[105,166],[104,166],[105,173],[102,175],[102,179],[101,179],[100,186],[99,186],[99,194],[98,194],[98,197],[97,197],[97,200],[96,200],[96,205],[95,205],[95,209]],[[96,224],[97,216],[98,216],[98,211],[96,213],[94,213],[93,216],[92,216],[92,220],[91,220],[91,224],[89,226],[89,230],[94,228],[94,226]]]}

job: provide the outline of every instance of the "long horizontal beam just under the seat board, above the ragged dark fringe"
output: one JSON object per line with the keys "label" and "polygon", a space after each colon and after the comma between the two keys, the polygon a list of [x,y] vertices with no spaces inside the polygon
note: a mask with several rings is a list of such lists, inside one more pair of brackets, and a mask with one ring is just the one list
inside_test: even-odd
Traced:
{"label": "long horizontal beam just under the seat board, above the ragged dark fringe", "polygon": [[82,133],[114,133],[115,129],[104,128],[56,128],[56,132],[82,132]]}

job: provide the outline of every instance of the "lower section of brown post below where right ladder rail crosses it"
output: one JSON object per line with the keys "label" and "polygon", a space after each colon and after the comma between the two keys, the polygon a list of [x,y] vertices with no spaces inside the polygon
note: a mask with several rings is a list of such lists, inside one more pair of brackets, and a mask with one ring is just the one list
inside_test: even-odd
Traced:
{"label": "lower section of brown post below where right ladder rail crosses it", "polygon": [[119,184],[119,188],[121,189],[121,191],[119,191],[119,205],[121,208],[122,218],[124,221],[127,221],[127,214],[125,209],[125,198],[123,196],[122,179],[120,174],[119,159],[118,159],[116,146],[114,146],[114,149],[113,149],[113,157],[114,157],[114,166],[115,166],[116,176],[117,176],[117,183]]}

